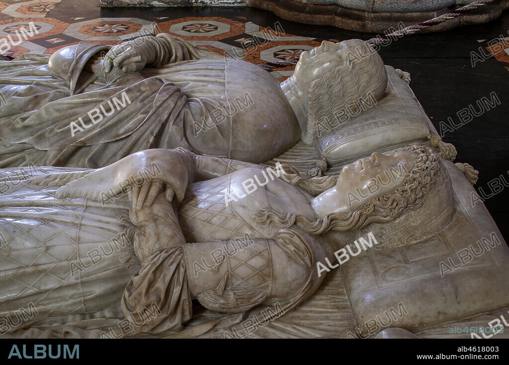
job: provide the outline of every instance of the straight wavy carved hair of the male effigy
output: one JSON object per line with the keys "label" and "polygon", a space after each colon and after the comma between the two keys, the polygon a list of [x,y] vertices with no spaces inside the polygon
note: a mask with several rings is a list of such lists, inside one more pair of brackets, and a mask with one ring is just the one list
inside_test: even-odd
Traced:
{"label": "straight wavy carved hair of the male effigy", "polygon": [[346,46],[346,62],[314,80],[308,89],[307,127],[302,132],[308,145],[317,137],[320,122],[359,113],[359,106],[380,100],[387,88],[385,65],[370,45],[359,39],[341,43]]}

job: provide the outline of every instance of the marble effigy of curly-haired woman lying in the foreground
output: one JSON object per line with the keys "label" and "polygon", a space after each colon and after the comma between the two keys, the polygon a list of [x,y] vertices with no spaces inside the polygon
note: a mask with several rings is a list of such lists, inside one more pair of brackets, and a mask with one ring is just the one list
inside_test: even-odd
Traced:
{"label": "marble effigy of curly-haired woman lying in the foreground", "polygon": [[[286,312],[320,285],[319,263],[359,234],[389,228],[412,243],[454,212],[445,167],[416,146],[309,180],[290,165],[276,173],[184,149],[0,175],[0,331],[29,336],[77,333],[69,323],[100,336],[101,321],[119,316],[134,333],[177,331],[192,300],[222,313],[271,303]],[[375,191],[367,181],[378,177]]]}

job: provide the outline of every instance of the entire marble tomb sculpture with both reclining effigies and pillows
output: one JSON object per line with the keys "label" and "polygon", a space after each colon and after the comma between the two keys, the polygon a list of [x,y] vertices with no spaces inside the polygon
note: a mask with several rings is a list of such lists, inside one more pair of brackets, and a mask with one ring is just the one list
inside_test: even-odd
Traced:
{"label": "entire marble tomb sculpture with both reclining effigies and pillows", "polygon": [[[245,64],[169,35],[0,62],[0,335],[505,323],[509,249],[408,73],[359,40],[303,52],[282,83]],[[246,83],[252,103],[207,119]]]}

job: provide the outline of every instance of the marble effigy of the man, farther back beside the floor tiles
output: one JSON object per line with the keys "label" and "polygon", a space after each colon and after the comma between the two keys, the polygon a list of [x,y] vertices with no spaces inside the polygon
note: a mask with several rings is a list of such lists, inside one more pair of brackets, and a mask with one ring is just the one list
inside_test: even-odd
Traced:
{"label": "marble effigy of the man, farther back beside the floor tiles", "polygon": [[167,34],[24,54],[0,62],[0,167],[97,168],[178,147],[261,163],[386,86],[383,61],[360,40],[303,52],[282,83]]}

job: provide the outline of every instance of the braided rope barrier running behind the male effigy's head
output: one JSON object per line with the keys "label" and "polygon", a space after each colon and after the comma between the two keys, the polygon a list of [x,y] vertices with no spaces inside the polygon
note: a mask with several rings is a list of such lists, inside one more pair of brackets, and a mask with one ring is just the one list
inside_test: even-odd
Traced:
{"label": "braided rope barrier running behind the male effigy's head", "polygon": [[[395,32],[392,32],[392,33],[389,33],[389,34],[385,34],[385,35],[379,35],[375,38],[372,38],[368,41],[366,41],[367,43],[371,44],[371,45],[375,45],[375,44],[378,44],[378,43],[384,43],[387,39],[398,39],[398,38],[401,38],[401,37],[404,37],[404,36],[407,36],[407,35],[411,35],[411,34],[415,34],[415,33],[418,33],[418,32],[422,32],[423,30],[426,30],[434,25],[437,25],[437,24],[440,24],[440,23],[443,23],[444,21],[447,21],[447,20],[451,20],[451,19],[454,19],[454,18],[457,18],[461,15],[464,15],[472,10],[475,10],[479,7],[482,7],[482,6],[485,6],[487,4],[490,4],[490,3],[493,3],[495,2],[496,0],[476,0],[470,4],[467,4],[465,6],[462,6],[461,8],[458,8],[458,9],[455,9],[453,11],[450,11],[448,13],[445,13],[445,14],[442,14],[440,16],[437,16],[433,19],[430,19],[430,20],[426,20],[425,22],[422,22],[422,23],[419,23],[419,24],[415,24],[415,25],[409,25],[409,26],[406,26],[404,27],[403,29],[400,29],[400,30],[397,30]],[[281,62],[266,62],[266,63],[263,63],[263,64],[259,64],[258,66],[266,69],[267,71],[270,71],[270,70],[273,70],[275,68],[280,68],[280,67],[288,67],[288,66],[293,66],[297,63],[297,61],[299,61],[298,59],[292,59],[292,60],[287,60],[286,62],[285,61],[281,61]]]}

